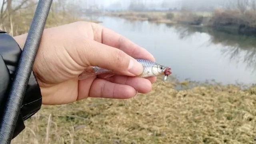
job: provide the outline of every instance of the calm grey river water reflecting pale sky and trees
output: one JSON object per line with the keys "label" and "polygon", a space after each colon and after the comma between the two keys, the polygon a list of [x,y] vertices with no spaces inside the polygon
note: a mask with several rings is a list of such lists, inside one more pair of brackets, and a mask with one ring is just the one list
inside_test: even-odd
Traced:
{"label": "calm grey river water reflecting pale sky and trees", "polygon": [[100,17],[102,25],[147,49],[179,80],[256,82],[256,38],[206,28]]}

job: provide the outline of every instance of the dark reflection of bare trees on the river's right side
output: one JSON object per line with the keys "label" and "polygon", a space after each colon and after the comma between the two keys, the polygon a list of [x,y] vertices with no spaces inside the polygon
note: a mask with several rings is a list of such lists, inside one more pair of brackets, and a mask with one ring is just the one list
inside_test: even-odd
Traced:
{"label": "dark reflection of bare trees on the river's right side", "polygon": [[242,36],[234,33],[222,32],[205,27],[184,27],[166,26],[175,28],[181,39],[188,39],[195,33],[206,33],[210,36],[208,42],[222,45],[220,49],[223,57],[228,57],[230,61],[246,64],[246,70],[256,75],[256,37]]}

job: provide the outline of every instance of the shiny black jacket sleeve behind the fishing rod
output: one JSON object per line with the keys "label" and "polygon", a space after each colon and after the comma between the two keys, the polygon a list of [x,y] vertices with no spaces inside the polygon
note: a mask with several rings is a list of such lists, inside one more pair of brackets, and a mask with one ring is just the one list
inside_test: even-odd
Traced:
{"label": "shiny black jacket sleeve behind the fishing rod", "polygon": [[[10,90],[12,79],[18,65],[21,49],[12,36],[0,30],[0,118]],[[12,138],[24,130],[24,120],[38,112],[42,105],[40,87],[34,73],[30,75],[26,94],[22,103],[18,121]]]}

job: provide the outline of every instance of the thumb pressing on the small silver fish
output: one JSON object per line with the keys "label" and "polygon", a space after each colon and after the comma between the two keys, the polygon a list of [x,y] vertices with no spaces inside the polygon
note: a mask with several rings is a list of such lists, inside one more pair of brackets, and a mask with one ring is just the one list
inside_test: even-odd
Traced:
{"label": "thumb pressing on the small silver fish", "polygon": [[80,58],[83,65],[92,65],[102,67],[127,76],[140,75],[143,71],[143,66],[133,57],[126,54],[124,51],[104,45],[94,40],[88,40],[86,48],[80,47]]}

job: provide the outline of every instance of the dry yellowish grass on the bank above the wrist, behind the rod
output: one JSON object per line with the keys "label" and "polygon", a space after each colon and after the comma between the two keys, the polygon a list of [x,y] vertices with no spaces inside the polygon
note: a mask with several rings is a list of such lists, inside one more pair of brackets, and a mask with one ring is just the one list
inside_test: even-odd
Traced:
{"label": "dry yellowish grass on the bank above the wrist, behind the rod", "polygon": [[[7,18],[3,19],[2,23],[0,23],[0,30],[5,30],[12,36],[27,33],[36,10],[36,4],[31,3],[30,5],[31,6],[28,6],[28,8],[18,9],[13,12],[12,18],[10,19],[11,22]],[[73,6],[62,3],[61,1],[53,2],[45,28],[60,26],[77,21],[100,23],[97,20],[88,20],[83,18],[83,14],[81,14],[79,10],[80,6],[77,5]]]}

